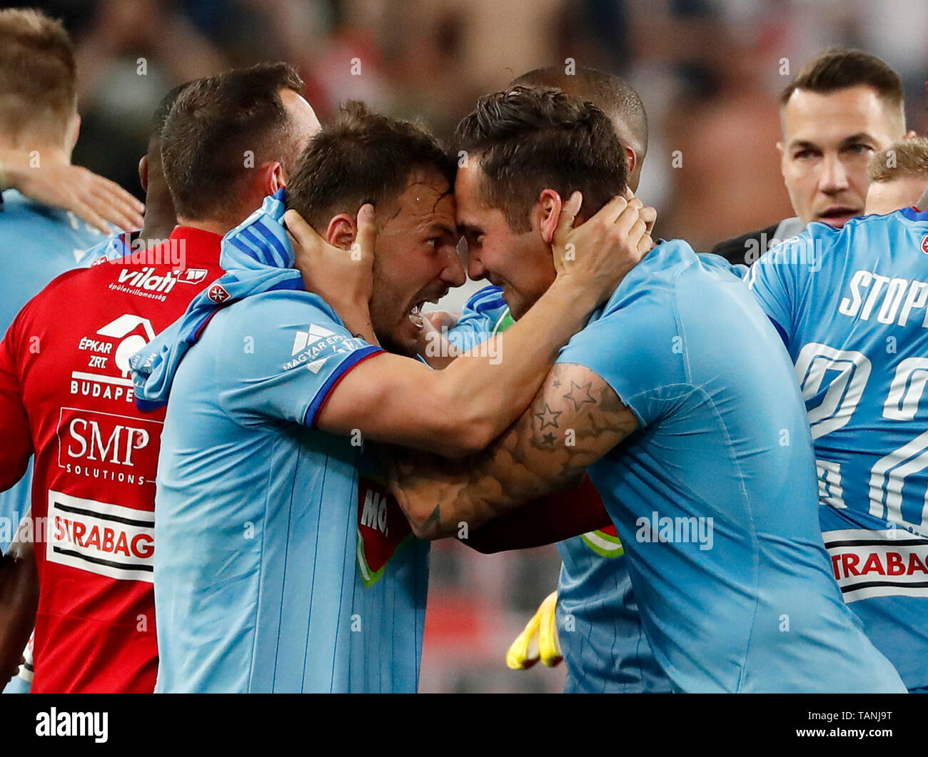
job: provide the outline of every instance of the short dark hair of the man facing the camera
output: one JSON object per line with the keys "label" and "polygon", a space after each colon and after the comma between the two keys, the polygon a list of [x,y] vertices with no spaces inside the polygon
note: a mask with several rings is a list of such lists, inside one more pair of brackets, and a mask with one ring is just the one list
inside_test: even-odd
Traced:
{"label": "short dark hair of the man facing the camera", "polygon": [[853,86],[869,86],[888,105],[900,112],[903,108],[902,82],[896,71],[870,53],[845,47],[832,47],[806,63],[783,90],[780,106],[785,106],[797,89],[831,95]]}

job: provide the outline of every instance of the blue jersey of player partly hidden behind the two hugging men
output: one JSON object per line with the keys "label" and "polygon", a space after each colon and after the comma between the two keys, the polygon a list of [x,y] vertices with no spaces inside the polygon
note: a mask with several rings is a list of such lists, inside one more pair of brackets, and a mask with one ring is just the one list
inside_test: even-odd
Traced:
{"label": "blue jersey of player partly hidden behind the two hugging men", "polygon": [[[467,350],[514,321],[499,287],[473,295],[448,332]],[[638,601],[628,577],[625,549],[614,529],[560,542],[557,622],[567,666],[567,693],[667,692],[641,626]]]}

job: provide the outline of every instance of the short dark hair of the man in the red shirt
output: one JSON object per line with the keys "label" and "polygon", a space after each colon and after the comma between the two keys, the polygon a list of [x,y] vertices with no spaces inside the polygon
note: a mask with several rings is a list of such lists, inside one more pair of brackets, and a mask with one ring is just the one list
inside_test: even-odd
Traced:
{"label": "short dark hair of the man in the red shirt", "polygon": [[260,64],[189,83],[161,130],[161,164],[179,218],[200,220],[236,203],[251,165],[279,160],[288,171],[296,148],[280,91],[303,93],[286,63]]}

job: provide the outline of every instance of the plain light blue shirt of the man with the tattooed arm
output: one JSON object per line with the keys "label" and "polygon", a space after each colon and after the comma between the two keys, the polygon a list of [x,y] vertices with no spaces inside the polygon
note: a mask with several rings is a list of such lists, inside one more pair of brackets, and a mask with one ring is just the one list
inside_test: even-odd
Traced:
{"label": "plain light blue shirt of the man with the tattooed arm", "polygon": [[831,577],[793,366],[737,276],[664,242],[558,358],[640,428],[587,468],[681,691],[902,691]]}

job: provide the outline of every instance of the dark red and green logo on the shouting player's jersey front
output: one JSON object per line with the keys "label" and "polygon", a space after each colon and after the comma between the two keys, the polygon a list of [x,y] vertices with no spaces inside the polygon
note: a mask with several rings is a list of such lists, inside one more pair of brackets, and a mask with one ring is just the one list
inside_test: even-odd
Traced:
{"label": "dark red and green logo on the shouting player's jersey front", "polygon": [[357,515],[358,569],[364,585],[372,586],[412,529],[393,494],[377,481],[358,480]]}

